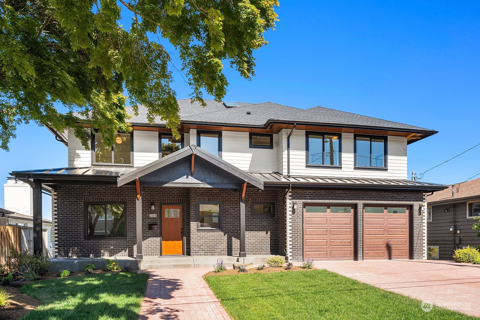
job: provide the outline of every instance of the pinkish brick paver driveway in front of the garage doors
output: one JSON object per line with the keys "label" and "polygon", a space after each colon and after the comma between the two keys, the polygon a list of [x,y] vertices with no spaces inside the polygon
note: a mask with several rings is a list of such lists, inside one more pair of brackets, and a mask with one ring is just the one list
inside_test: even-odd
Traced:
{"label": "pinkish brick paver driveway in front of the garage doors", "polygon": [[480,265],[426,260],[318,261],[315,268],[480,317]]}

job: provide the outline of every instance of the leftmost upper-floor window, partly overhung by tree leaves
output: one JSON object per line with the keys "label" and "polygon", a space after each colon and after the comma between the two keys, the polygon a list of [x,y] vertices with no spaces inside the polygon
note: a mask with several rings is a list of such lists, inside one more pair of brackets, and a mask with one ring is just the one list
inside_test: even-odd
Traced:
{"label": "leftmost upper-floor window, partly overhung by tree leaves", "polygon": [[132,135],[130,133],[117,133],[113,146],[108,147],[103,142],[101,133],[96,132],[93,139],[95,150],[95,163],[113,165],[132,164]]}

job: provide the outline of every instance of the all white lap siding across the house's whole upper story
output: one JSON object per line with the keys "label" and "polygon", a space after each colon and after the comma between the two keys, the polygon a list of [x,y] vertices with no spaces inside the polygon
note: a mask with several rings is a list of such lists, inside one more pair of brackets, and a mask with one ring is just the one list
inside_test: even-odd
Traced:
{"label": "all white lap siding across the house's whole upper story", "polygon": [[[222,158],[245,171],[266,171],[287,174],[287,137],[289,129],[274,134],[273,149],[249,147],[249,133],[222,131]],[[353,133],[342,133],[342,167],[316,168],[306,166],[305,130],[294,130],[290,137],[290,175],[314,177],[351,177],[408,179],[407,139],[388,137],[387,169],[369,170],[354,168]],[[184,147],[197,144],[197,130],[183,134]],[[158,132],[134,130],[133,165],[145,166],[159,157]],[[85,150],[80,140],[69,130],[69,166],[91,166],[91,152]]]}

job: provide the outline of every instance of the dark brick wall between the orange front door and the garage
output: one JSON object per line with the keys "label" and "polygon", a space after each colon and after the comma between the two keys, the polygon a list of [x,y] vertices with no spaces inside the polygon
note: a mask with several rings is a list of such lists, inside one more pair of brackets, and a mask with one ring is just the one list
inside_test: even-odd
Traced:
{"label": "dark brick wall between the orange front door and the garage", "polygon": [[[247,189],[245,194],[245,249],[248,255],[278,254],[283,250],[283,209],[276,202],[280,190]],[[197,230],[197,202],[222,202],[222,230]],[[233,189],[190,190],[191,255],[238,255],[240,251],[240,194]],[[282,200],[283,201],[283,200]],[[252,202],[276,202],[275,217],[254,218]],[[283,206],[281,206],[283,208]]]}

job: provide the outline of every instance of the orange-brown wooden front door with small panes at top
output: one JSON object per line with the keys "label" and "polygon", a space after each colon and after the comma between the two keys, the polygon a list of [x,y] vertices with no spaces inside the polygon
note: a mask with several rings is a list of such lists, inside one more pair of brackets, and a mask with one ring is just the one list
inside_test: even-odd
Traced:
{"label": "orange-brown wooden front door with small panes at top", "polygon": [[183,254],[183,206],[162,205],[162,255]]}

